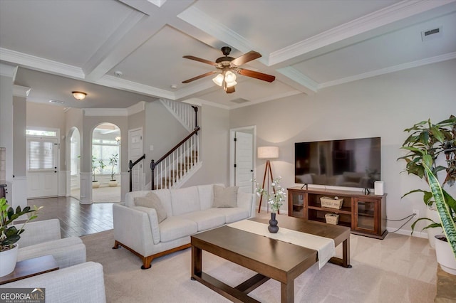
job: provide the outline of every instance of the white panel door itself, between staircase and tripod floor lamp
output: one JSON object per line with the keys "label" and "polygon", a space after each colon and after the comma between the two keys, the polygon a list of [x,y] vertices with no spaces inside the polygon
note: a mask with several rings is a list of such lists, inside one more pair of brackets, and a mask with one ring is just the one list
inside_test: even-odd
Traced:
{"label": "white panel door itself, between staircase and tripod floor lamp", "polygon": [[253,134],[236,132],[234,141],[234,185],[239,191],[253,193]]}

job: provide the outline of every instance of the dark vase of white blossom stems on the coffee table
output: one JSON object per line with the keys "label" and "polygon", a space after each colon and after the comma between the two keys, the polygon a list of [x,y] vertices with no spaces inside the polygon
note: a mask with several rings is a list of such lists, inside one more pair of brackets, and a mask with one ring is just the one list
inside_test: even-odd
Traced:
{"label": "dark vase of white blossom stems on the coffee table", "polygon": [[255,179],[253,180],[255,183],[257,196],[266,196],[268,204],[271,204],[271,220],[269,220],[268,226],[270,233],[277,233],[279,231],[279,226],[277,226],[276,213],[284,204],[286,197],[285,189],[279,184],[280,179],[281,177],[272,180],[272,193],[269,193],[269,188],[264,189],[259,186]]}

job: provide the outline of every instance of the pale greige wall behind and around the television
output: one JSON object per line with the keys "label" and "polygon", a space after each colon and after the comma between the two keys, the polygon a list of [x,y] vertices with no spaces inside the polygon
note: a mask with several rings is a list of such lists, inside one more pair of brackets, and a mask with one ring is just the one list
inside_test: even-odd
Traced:
{"label": "pale greige wall behind and around the television", "polygon": [[[396,159],[404,154],[400,146],[408,137],[403,129],[428,118],[440,122],[456,115],[455,79],[456,60],[425,65],[328,87],[312,96],[296,95],[232,110],[230,127],[257,125],[257,146],[279,146],[279,159],[272,161],[272,169],[274,176],[283,178],[284,187],[295,186],[295,142],[381,137],[388,218],[404,218],[413,209],[424,215],[421,196],[400,197],[426,185],[418,177],[400,174],[405,165]],[[264,161],[257,159],[257,173],[261,171]],[[402,223],[388,221],[387,225],[394,230]],[[410,223],[403,232],[410,234]]]}

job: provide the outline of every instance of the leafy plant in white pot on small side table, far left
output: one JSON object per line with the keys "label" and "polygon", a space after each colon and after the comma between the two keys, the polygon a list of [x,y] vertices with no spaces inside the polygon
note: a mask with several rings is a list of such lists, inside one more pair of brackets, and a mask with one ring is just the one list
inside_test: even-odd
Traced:
{"label": "leafy plant in white pot on small side table, far left", "polygon": [[[21,206],[16,208],[16,211],[8,205],[6,198],[0,198],[0,277],[4,277],[13,272],[16,267],[19,245],[16,244],[21,238],[21,233],[24,233],[24,226],[28,221],[37,217],[37,211],[43,206],[37,208],[26,206],[21,209]],[[31,213],[26,222],[17,229],[16,226],[10,225],[14,220],[26,213]]]}

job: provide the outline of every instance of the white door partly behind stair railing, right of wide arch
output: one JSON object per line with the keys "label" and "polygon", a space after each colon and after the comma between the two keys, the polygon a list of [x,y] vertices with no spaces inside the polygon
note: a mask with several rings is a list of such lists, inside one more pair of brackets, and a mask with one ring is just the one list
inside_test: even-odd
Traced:
{"label": "white door partly behind stair railing, right of wide arch", "polygon": [[[128,161],[133,163],[144,154],[142,149],[142,128],[128,131]],[[144,160],[133,166],[132,169],[132,191],[142,190],[142,166]]]}

